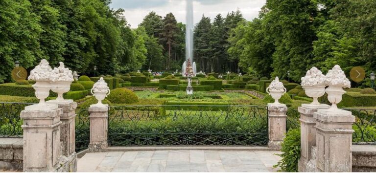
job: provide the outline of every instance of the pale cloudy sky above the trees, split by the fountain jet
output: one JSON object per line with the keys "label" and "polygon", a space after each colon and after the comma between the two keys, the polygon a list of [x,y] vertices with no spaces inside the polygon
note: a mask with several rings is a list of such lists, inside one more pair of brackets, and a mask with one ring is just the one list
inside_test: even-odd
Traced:
{"label": "pale cloudy sky above the trees, split by the fountain jet", "polygon": [[[197,23],[202,15],[213,19],[218,13],[226,16],[237,8],[247,20],[258,16],[258,12],[266,0],[194,0],[194,22]],[[112,0],[111,8],[125,9],[124,16],[133,28],[150,12],[155,11],[160,16],[172,12],[178,22],[186,22],[185,0]]]}

